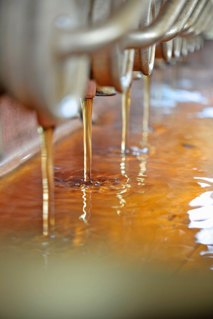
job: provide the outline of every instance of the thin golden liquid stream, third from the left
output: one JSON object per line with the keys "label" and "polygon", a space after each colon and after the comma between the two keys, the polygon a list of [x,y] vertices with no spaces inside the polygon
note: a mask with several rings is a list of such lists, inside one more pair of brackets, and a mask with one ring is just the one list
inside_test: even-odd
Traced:
{"label": "thin golden liquid stream, third from the left", "polygon": [[122,95],[122,140],[121,153],[124,154],[129,149],[129,114],[131,103],[131,85]]}

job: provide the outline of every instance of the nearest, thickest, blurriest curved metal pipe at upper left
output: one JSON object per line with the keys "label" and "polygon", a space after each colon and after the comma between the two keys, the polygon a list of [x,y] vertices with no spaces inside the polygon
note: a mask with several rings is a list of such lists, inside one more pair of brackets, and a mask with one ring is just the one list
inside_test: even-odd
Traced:
{"label": "nearest, thickest, blurriest curved metal pipe at upper left", "polygon": [[[181,0],[182,1],[182,0]],[[91,53],[117,41],[124,36],[135,23],[139,23],[144,4],[148,0],[127,0],[123,7],[102,25],[80,30],[55,30],[54,47],[59,56]]]}

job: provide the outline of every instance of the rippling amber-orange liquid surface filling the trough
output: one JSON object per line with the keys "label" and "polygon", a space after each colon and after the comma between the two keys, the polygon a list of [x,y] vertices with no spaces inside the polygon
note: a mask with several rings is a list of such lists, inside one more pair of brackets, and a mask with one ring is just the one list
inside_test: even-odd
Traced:
{"label": "rippling amber-orange liquid surface filling the trough", "polygon": [[[198,115],[211,107],[213,96],[210,85],[202,87],[194,80],[193,66],[188,69],[182,77],[191,89],[180,81],[176,88],[169,86],[174,92],[187,91],[187,101],[176,100],[172,108],[160,101],[151,106],[154,130],[146,136],[144,154],[105,154],[110,147],[120,149],[122,128],[121,105],[106,109],[93,126],[91,185],[82,184],[83,130],[55,146],[55,231],[49,237],[42,235],[39,155],[2,178],[1,249],[37,256],[47,267],[54,264],[55,252],[63,257],[78,252],[162,266],[171,274],[211,272],[213,124],[211,117]],[[170,69],[164,72],[169,82]],[[209,76],[206,70],[206,81]],[[156,78],[152,88],[159,85]],[[133,83],[130,119],[130,146],[138,147],[141,87],[142,81]],[[190,100],[194,91],[206,99],[205,105]]]}

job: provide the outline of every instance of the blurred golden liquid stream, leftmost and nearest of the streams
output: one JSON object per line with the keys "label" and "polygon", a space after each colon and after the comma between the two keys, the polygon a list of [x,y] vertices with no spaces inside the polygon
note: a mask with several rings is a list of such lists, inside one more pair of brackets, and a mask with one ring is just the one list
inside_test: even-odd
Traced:
{"label": "blurred golden liquid stream, leftmost and nearest of the streams", "polygon": [[[54,231],[54,182],[53,182],[53,156],[52,137],[54,128],[38,127],[41,145],[42,187],[43,187],[43,235],[48,235],[49,230]],[[50,229],[49,229],[50,228]]]}

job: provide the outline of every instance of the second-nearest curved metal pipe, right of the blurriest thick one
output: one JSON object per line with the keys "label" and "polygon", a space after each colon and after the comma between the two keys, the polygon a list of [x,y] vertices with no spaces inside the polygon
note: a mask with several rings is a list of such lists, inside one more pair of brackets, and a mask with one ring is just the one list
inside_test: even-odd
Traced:
{"label": "second-nearest curved metal pipe, right of the blurriest thick one", "polygon": [[128,33],[123,39],[123,48],[146,48],[160,41],[178,19],[186,0],[167,0],[156,20],[149,26]]}

